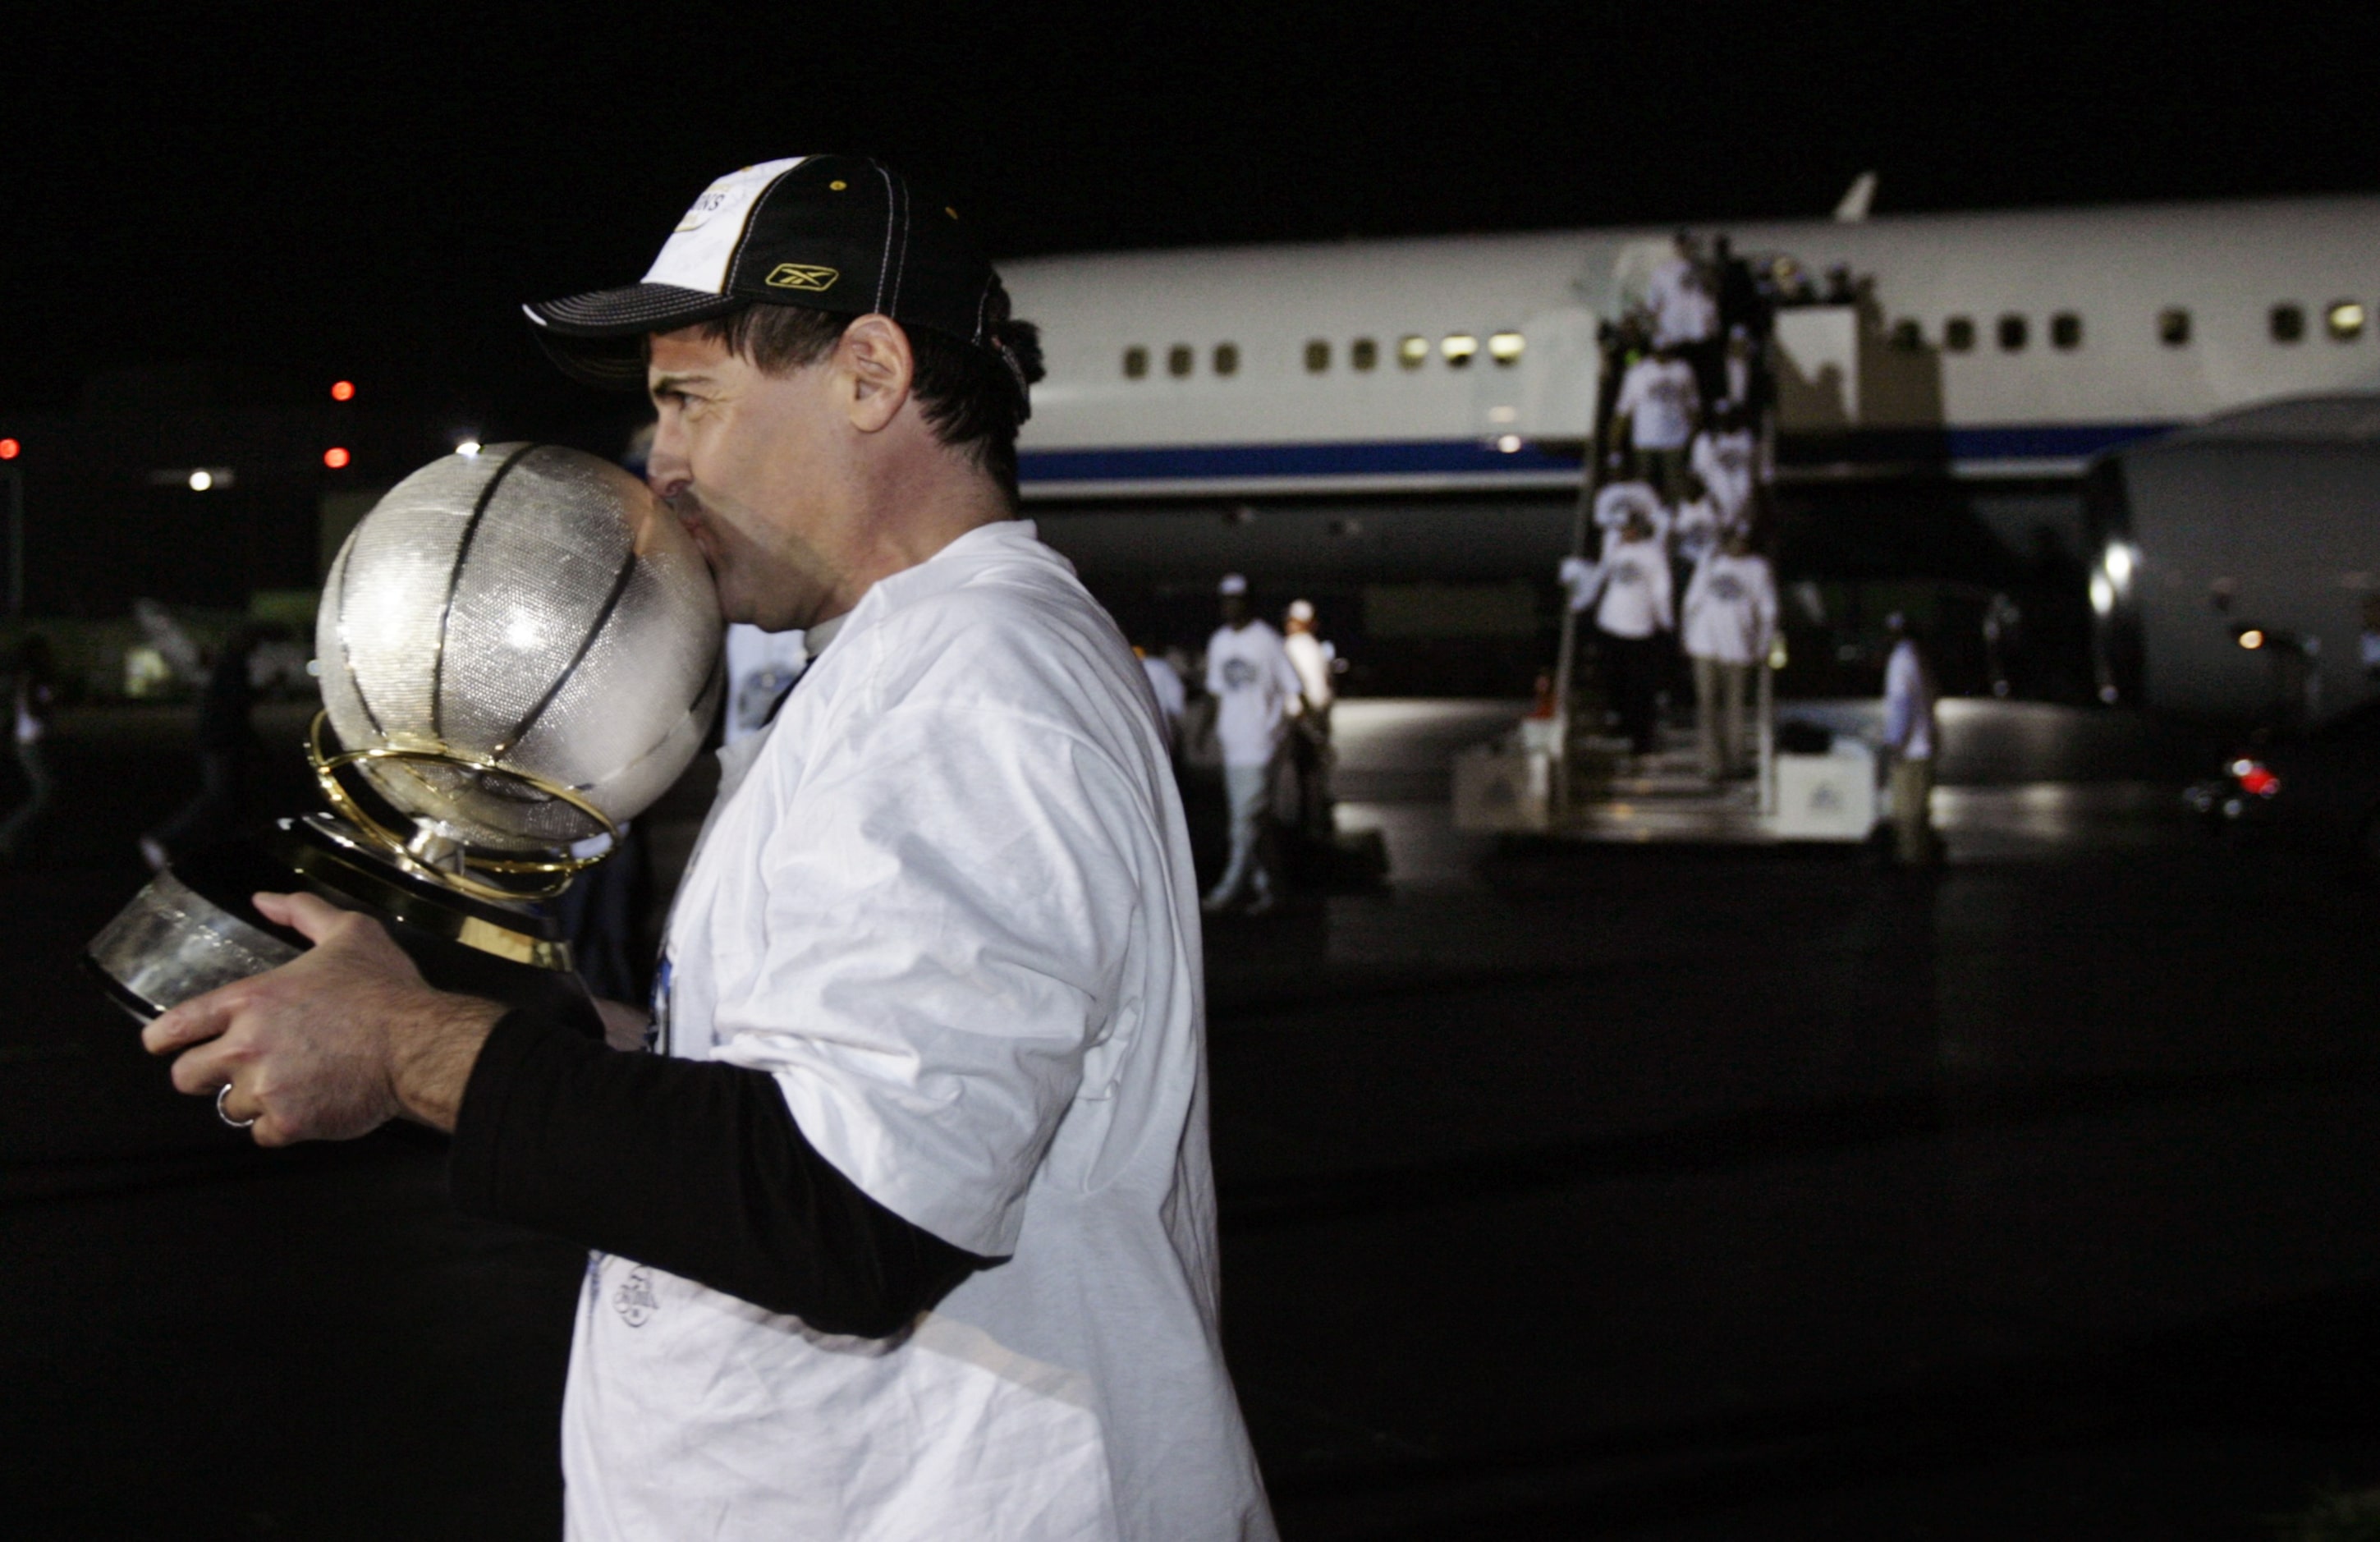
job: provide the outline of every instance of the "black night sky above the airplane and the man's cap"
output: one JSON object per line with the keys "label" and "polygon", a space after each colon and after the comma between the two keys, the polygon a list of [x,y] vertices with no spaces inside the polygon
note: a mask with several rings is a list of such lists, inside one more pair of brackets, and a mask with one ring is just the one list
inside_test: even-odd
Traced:
{"label": "black night sky above the airplane and the man's cap", "polygon": [[1864,167],[1880,209],[2380,188],[2370,7],[1135,10],[17,14],[0,405],[233,359],[566,412],[514,305],[633,278],[714,174],[819,148],[997,255],[1818,214]]}

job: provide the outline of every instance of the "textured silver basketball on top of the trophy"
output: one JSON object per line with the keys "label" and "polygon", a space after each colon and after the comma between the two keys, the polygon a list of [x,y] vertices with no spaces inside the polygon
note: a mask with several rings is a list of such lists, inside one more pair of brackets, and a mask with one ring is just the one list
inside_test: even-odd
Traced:
{"label": "textured silver basketball on top of the trophy", "polygon": [[[719,707],[719,595],[676,516],[619,466],[488,445],[414,471],[331,564],[321,700],[397,809],[493,852],[552,852],[640,814]],[[516,771],[519,776],[509,776]]]}

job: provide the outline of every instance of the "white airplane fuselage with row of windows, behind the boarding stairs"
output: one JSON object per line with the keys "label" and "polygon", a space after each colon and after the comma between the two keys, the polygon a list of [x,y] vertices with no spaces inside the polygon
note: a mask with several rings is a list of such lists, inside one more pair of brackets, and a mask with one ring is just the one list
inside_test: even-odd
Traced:
{"label": "white airplane fuselage with row of windows, behind the boarding stairs", "polygon": [[[1780,371],[1797,376],[1780,381],[1783,431],[1816,433],[1837,466],[2063,476],[2242,405],[2380,390],[2380,198],[1699,233],[1864,281],[1835,336],[1780,316]],[[1576,485],[1597,321],[1664,243],[1557,231],[1009,264],[1050,366],[1019,445],[1026,500]],[[2294,340],[2275,307],[2294,307]],[[2004,347],[2009,316],[2021,347]],[[1518,357],[1490,357],[1497,333]],[[1449,338],[1473,340],[1468,362]]]}

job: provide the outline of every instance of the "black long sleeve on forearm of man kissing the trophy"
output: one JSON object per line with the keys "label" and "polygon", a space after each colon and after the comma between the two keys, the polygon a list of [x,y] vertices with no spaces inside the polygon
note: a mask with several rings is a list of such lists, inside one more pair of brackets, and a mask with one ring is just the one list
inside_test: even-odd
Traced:
{"label": "black long sleeve on forearm of man kissing the trophy", "polygon": [[802,1135],[766,1071],[621,1054],[505,1014],[471,1066],[455,1204],[885,1337],[983,1259],[876,1204]]}

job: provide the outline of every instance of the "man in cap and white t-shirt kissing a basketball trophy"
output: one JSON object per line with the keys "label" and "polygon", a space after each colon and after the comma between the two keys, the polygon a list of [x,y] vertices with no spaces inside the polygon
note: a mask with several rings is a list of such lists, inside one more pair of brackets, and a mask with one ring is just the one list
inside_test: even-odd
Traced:
{"label": "man in cap and white t-shirt kissing a basketball trophy", "polygon": [[647,283],[531,307],[569,374],[650,390],[721,612],[816,652],[721,754],[652,1016],[585,1040],[259,895],[314,947],[145,1030],[262,1145],[409,1116],[466,1211],[595,1249],[574,1542],[1273,1537],[1180,800],[1130,647],[1016,519],[1040,347],[947,209],[764,162]]}

